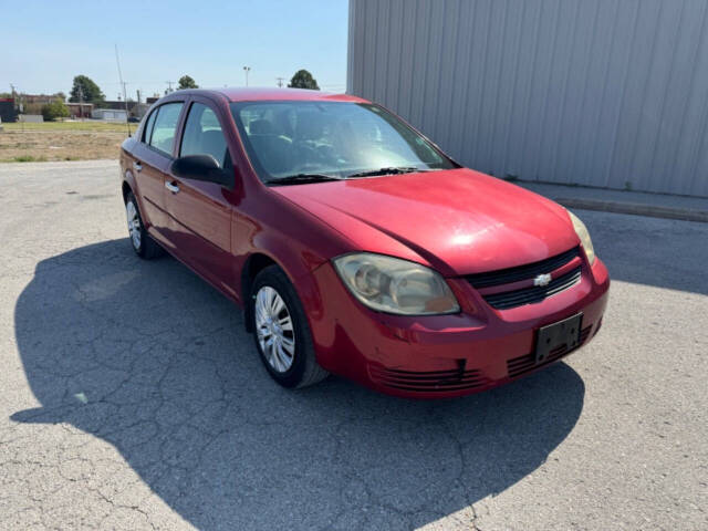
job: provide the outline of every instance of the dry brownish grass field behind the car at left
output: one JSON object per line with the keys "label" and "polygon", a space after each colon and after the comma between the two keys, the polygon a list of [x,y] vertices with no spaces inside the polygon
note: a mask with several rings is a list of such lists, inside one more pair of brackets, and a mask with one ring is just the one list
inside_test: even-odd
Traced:
{"label": "dry brownish grass field behind the car at left", "polygon": [[[138,124],[129,124],[131,134]],[[0,163],[117,158],[125,123],[45,122],[2,124]]]}

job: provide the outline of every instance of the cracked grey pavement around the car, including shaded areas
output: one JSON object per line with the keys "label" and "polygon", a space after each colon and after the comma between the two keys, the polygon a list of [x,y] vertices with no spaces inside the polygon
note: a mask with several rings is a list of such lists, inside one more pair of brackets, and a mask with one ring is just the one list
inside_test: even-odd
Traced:
{"label": "cracked grey pavement around the car, including shaded areas", "polygon": [[0,166],[0,529],[708,529],[708,225],[580,212],[600,335],[468,398],[274,385],[126,238],[116,162]]}

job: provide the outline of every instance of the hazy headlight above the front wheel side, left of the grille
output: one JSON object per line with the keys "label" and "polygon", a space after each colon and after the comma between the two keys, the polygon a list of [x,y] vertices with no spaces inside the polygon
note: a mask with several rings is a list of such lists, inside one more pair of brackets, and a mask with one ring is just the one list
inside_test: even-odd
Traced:
{"label": "hazy headlight above the front wheel side, left of the grille", "polygon": [[372,310],[402,315],[460,310],[442,277],[419,263],[371,252],[345,254],[333,262],[348,290]]}

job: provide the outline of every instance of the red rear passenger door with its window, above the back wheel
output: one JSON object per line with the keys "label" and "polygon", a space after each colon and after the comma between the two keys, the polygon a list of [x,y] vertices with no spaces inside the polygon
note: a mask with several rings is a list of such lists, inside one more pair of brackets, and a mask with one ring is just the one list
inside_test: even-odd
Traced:
{"label": "red rear passenger door with its window, above the back wheel", "polygon": [[133,163],[144,222],[163,243],[169,241],[165,176],[174,160],[177,126],[184,105],[184,102],[169,102],[152,111],[135,149],[138,160]]}

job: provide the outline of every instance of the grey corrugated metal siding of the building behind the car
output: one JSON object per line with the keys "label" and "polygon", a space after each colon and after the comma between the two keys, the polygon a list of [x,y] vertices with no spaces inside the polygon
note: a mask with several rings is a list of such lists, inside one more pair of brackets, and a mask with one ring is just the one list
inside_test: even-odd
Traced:
{"label": "grey corrugated metal siding of the building behind the car", "polygon": [[347,92],[497,176],[708,196],[706,0],[350,0]]}

